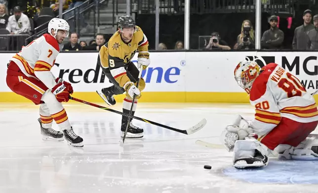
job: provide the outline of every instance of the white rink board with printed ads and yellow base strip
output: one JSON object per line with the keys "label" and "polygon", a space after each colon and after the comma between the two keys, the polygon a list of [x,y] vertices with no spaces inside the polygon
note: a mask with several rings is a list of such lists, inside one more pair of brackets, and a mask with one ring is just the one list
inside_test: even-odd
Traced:
{"label": "white rink board with printed ads and yellow base strip", "polygon": [[[6,64],[14,54],[0,53],[0,102],[26,102],[6,85]],[[71,82],[74,97],[102,102],[95,93],[111,86],[97,63],[98,53],[60,53],[52,72]],[[245,58],[261,66],[275,62],[295,74],[308,92],[318,89],[315,52],[151,52],[151,64],[143,71],[144,102],[248,102],[234,80],[234,68]],[[137,55],[132,61],[136,64]],[[116,96],[117,100],[124,95]]]}

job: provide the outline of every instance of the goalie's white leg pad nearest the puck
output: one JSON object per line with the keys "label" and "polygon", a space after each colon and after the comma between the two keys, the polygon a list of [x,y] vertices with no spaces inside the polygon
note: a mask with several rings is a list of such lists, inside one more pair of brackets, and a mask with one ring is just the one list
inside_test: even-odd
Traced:
{"label": "goalie's white leg pad nearest the puck", "polygon": [[238,169],[268,165],[269,149],[253,137],[237,140],[234,146],[233,166]]}

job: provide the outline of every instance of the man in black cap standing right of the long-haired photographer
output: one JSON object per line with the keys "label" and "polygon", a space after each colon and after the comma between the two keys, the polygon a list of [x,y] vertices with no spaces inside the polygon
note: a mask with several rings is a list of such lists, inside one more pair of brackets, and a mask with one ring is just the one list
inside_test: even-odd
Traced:
{"label": "man in black cap standing right of the long-haired photographer", "polygon": [[269,18],[271,28],[263,33],[261,46],[265,49],[280,49],[284,40],[284,32],[278,29],[278,17],[272,15]]}

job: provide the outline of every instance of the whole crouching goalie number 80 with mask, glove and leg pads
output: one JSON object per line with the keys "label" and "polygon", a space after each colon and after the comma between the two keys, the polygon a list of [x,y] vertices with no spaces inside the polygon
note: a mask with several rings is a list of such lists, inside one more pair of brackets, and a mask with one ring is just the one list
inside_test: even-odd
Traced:
{"label": "whole crouching goalie number 80 with mask, glove and leg pads", "polygon": [[255,107],[252,121],[238,115],[222,133],[223,144],[234,151],[234,166],[266,166],[275,148],[279,158],[317,159],[317,139],[308,135],[318,125],[318,111],[301,82],[274,63],[260,69],[253,61],[243,61],[234,75]]}

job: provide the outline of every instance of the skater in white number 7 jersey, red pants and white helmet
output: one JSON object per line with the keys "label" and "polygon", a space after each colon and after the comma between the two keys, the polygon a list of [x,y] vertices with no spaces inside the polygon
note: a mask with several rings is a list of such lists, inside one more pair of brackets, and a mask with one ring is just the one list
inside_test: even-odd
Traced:
{"label": "skater in white number 7 jersey, red pants and white helmet", "polygon": [[[69,145],[82,147],[83,139],[75,134],[61,103],[69,101],[73,88],[50,71],[69,29],[65,20],[53,18],[48,24],[48,34],[23,47],[9,61],[6,83],[14,93],[40,104],[38,121],[43,139],[62,141],[64,136]],[[51,128],[53,120],[62,132]]]}

